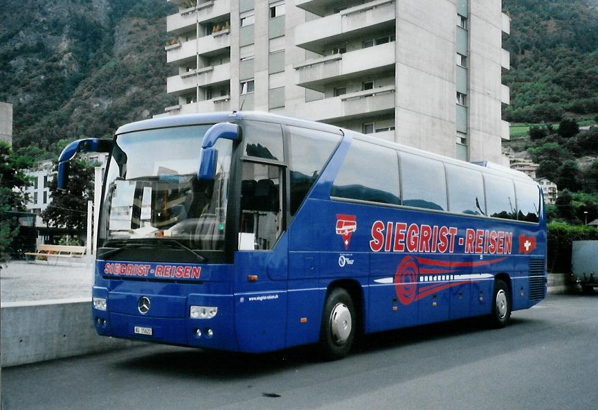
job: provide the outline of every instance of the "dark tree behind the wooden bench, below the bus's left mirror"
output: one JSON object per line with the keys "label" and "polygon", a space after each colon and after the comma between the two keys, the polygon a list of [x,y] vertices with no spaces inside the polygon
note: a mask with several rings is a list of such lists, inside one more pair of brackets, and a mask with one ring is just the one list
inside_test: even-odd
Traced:
{"label": "dark tree behind the wooden bench, below the bus's left mirror", "polygon": [[[56,170],[55,166],[55,170]],[[85,229],[87,224],[87,201],[93,198],[93,166],[81,160],[70,163],[66,189],[59,190],[57,178],[49,185],[52,202],[42,212],[42,220],[48,226],[66,226],[73,230]]]}

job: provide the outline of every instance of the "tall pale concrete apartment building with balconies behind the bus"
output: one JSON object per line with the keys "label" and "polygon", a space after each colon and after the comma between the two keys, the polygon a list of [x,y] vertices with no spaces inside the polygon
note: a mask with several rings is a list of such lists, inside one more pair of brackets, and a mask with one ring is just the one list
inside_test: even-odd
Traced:
{"label": "tall pale concrete apartment building with balconies behind the bus", "polygon": [[501,1],[169,0],[164,115],[274,112],[501,161]]}

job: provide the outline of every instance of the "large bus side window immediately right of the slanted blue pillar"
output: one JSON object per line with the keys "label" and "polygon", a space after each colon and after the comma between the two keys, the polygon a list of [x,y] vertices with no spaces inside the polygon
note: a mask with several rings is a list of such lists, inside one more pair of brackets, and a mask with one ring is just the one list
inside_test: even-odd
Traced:
{"label": "large bus side window immediately right of the slanted blue pillar", "polygon": [[353,141],[330,195],[400,205],[397,152],[363,141]]}

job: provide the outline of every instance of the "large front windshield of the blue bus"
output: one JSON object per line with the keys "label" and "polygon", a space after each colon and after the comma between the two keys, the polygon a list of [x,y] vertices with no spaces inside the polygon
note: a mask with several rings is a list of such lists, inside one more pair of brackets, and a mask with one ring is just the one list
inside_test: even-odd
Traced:
{"label": "large front windshield of the blue bus", "polygon": [[188,251],[224,250],[233,143],[217,141],[215,178],[197,179],[201,142],[210,126],[117,136],[107,169],[100,247],[174,242]]}

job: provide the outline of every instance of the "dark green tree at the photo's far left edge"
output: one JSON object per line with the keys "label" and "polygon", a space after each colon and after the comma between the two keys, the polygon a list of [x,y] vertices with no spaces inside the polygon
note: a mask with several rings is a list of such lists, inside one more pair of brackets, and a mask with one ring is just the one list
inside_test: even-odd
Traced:
{"label": "dark green tree at the photo's far left edge", "polygon": [[30,184],[24,170],[31,159],[12,152],[10,145],[0,141],[0,262],[7,262],[8,248],[19,233],[19,224],[7,211],[24,211],[26,198],[21,188]]}

